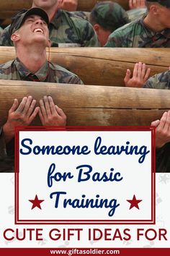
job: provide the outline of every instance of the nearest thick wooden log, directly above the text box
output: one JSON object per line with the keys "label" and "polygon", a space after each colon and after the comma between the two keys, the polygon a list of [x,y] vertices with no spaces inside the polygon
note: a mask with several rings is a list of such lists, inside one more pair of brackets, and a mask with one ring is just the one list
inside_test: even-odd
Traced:
{"label": "nearest thick wooden log, directly above the text box", "polygon": [[[14,98],[32,95],[37,101],[51,95],[67,115],[68,125],[150,125],[170,106],[170,90],[66,85],[0,80],[0,124]],[[40,125],[40,120],[35,120]]]}

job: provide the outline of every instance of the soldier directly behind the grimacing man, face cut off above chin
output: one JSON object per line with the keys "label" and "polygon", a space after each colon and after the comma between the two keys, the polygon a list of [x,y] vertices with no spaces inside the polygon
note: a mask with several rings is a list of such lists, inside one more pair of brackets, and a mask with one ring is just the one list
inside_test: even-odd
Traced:
{"label": "soldier directly behind the grimacing man, face cut off above chin", "polygon": [[[32,7],[38,7],[48,13],[51,46],[99,46],[97,35],[89,22],[71,12],[60,9],[60,0],[33,0]],[[17,17],[26,10],[22,10]],[[12,46],[9,27],[4,29],[0,38],[0,46]]]}

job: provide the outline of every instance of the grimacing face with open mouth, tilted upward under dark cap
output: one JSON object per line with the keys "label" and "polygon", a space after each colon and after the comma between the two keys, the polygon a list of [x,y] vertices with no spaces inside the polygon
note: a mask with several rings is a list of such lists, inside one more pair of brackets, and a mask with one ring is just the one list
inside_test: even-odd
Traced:
{"label": "grimacing face with open mouth, tilted upward under dark cap", "polygon": [[19,28],[18,33],[22,43],[37,41],[48,46],[48,25],[45,20],[38,15],[31,15],[30,17],[27,17],[22,27]]}

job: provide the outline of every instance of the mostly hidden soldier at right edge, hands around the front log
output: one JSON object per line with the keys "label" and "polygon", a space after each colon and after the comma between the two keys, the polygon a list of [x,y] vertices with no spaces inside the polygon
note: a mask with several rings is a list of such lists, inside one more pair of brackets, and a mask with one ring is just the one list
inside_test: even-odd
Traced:
{"label": "mostly hidden soldier at right edge, hands around the front log", "polygon": [[[148,79],[149,74],[150,69],[146,69],[146,64],[136,63],[133,77],[130,78],[129,69],[126,72],[125,86],[170,89],[170,67],[169,71]],[[170,111],[164,112],[161,119],[153,121],[151,125],[156,127],[156,172],[170,172]]]}

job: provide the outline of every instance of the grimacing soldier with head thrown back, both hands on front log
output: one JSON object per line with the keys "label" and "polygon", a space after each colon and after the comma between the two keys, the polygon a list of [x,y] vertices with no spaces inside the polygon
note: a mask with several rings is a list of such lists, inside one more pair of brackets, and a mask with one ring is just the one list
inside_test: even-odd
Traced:
{"label": "grimacing soldier with head thrown back, both hands on front log", "polygon": [[[79,77],[46,58],[49,44],[48,14],[33,8],[12,20],[9,33],[14,42],[17,58],[0,65],[0,79],[82,84]],[[66,115],[55,106],[53,98],[44,96],[35,107],[32,96],[19,104],[14,99],[9,116],[0,131],[0,171],[14,171],[14,127],[29,125],[39,114],[42,125],[66,125]]]}

